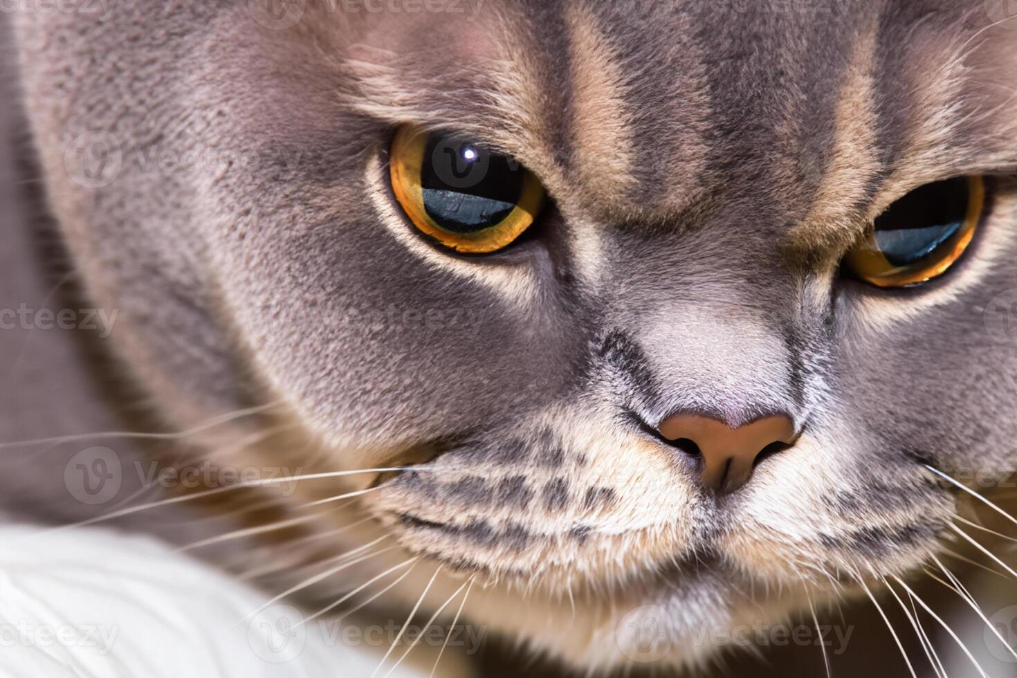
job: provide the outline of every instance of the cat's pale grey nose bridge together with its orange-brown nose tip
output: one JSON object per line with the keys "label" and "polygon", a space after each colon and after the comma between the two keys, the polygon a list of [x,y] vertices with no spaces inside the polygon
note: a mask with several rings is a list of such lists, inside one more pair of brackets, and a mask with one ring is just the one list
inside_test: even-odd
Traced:
{"label": "cat's pale grey nose bridge together with its orange-brown nose tip", "polygon": [[[691,240],[700,246],[692,253]],[[772,243],[756,240],[682,234],[673,251],[647,258],[652,269],[626,259],[625,298],[611,305],[638,347],[634,376],[648,382],[637,387],[641,417],[700,459],[702,483],[717,494],[793,444],[805,403],[802,290]]]}

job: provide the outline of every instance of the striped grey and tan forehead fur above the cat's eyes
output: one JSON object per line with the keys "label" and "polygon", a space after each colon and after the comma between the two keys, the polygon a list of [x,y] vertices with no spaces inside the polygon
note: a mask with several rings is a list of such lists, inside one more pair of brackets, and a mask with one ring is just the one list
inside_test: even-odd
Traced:
{"label": "striped grey and tan forehead fur above the cat's eyes", "polygon": [[565,209],[680,227],[720,199],[842,247],[920,183],[1015,164],[1013,32],[957,3],[474,9],[326,15],[313,39],[352,108],[475,134]]}

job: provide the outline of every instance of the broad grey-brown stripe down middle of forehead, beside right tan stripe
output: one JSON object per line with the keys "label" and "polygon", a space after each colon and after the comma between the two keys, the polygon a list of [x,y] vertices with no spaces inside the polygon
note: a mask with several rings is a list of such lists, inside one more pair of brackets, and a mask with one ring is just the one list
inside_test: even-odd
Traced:
{"label": "broad grey-brown stripe down middle of forehead, beside right tan stripe", "polygon": [[834,0],[697,5],[697,40],[712,59],[708,171],[755,222],[783,226],[815,198],[853,50],[849,11]]}

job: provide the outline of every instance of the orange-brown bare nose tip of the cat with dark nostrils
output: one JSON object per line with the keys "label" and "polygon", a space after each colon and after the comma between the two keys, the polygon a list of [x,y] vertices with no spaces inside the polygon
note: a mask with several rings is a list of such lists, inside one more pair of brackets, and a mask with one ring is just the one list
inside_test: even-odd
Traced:
{"label": "orange-brown bare nose tip of the cat with dark nostrils", "polygon": [[785,415],[731,428],[719,419],[683,412],[665,419],[658,430],[675,447],[702,457],[703,484],[717,494],[744,486],[759,461],[794,442],[794,424]]}

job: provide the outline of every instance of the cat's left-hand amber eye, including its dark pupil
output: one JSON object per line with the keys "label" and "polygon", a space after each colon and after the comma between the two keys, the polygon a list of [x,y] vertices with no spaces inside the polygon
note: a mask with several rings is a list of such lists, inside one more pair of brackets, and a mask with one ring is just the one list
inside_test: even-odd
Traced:
{"label": "cat's left-hand amber eye, including its dark pupil", "polygon": [[544,201],[533,173],[455,135],[403,127],[390,167],[393,192],[413,225],[458,252],[507,246],[530,228]]}

